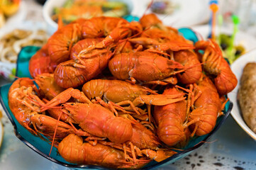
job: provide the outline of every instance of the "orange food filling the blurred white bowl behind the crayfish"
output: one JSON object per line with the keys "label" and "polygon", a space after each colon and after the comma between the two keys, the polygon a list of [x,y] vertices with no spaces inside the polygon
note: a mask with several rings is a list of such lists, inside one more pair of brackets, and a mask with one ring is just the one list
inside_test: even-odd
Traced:
{"label": "orange food filling the blurred white bowl behind the crayfish", "polygon": [[63,23],[71,23],[78,18],[96,16],[121,17],[128,14],[128,6],[121,1],[106,0],[67,0],[62,7],[55,7],[52,20],[57,22],[59,16]]}

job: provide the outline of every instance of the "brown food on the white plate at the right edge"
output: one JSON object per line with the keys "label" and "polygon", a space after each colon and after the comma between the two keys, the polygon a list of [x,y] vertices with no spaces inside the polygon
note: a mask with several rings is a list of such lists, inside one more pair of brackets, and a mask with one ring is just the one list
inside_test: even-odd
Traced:
{"label": "brown food on the white plate at the right edge", "polygon": [[238,101],[243,119],[249,128],[256,133],[256,62],[249,62],[243,69],[238,90]]}

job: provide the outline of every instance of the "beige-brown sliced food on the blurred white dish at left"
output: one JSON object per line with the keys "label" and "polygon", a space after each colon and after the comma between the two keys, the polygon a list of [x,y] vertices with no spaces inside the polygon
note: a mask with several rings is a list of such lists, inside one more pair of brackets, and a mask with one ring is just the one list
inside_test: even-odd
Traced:
{"label": "beige-brown sliced food on the blurred white dish at left", "polygon": [[16,29],[0,40],[0,62],[16,63],[18,52],[27,45],[42,46],[47,41],[45,30]]}

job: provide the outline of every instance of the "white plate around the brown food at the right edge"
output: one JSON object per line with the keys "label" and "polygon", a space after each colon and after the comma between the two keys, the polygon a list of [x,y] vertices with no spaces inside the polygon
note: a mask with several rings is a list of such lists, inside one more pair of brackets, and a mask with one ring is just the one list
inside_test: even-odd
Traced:
{"label": "white plate around the brown food at the right edge", "polygon": [[245,64],[247,64],[248,62],[256,62],[256,50],[252,50],[251,52],[248,52],[247,54],[239,57],[238,60],[235,60],[235,62],[233,62],[233,64],[231,65],[232,71],[238,78],[238,86],[236,86],[235,89],[228,94],[228,98],[230,98],[230,101],[232,101],[234,104],[233,109],[231,111],[231,115],[238,123],[238,125],[240,125],[240,127],[243,128],[243,130],[245,130],[245,132],[247,132],[247,134],[250,135],[250,137],[256,140],[255,132],[250,130],[250,128],[245,124],[245,121],[243,120],[242,113],[240,113],[237,101],[240,78],[243,74],[243,68],[245,67]]}

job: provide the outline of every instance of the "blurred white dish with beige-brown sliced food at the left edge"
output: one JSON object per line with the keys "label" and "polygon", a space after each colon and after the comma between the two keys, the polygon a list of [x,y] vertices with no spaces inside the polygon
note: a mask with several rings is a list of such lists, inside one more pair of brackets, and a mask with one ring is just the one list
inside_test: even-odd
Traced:
{"label": "blurred white dish with beige-brown sliced food at the left edge", "polygon": [[11,75],[16,73],[16,60],[22,47],[41,47],[48,40],[45,25],[33,21],[2,28],[0,38],[0,77],[6,79],[13,79]]}

